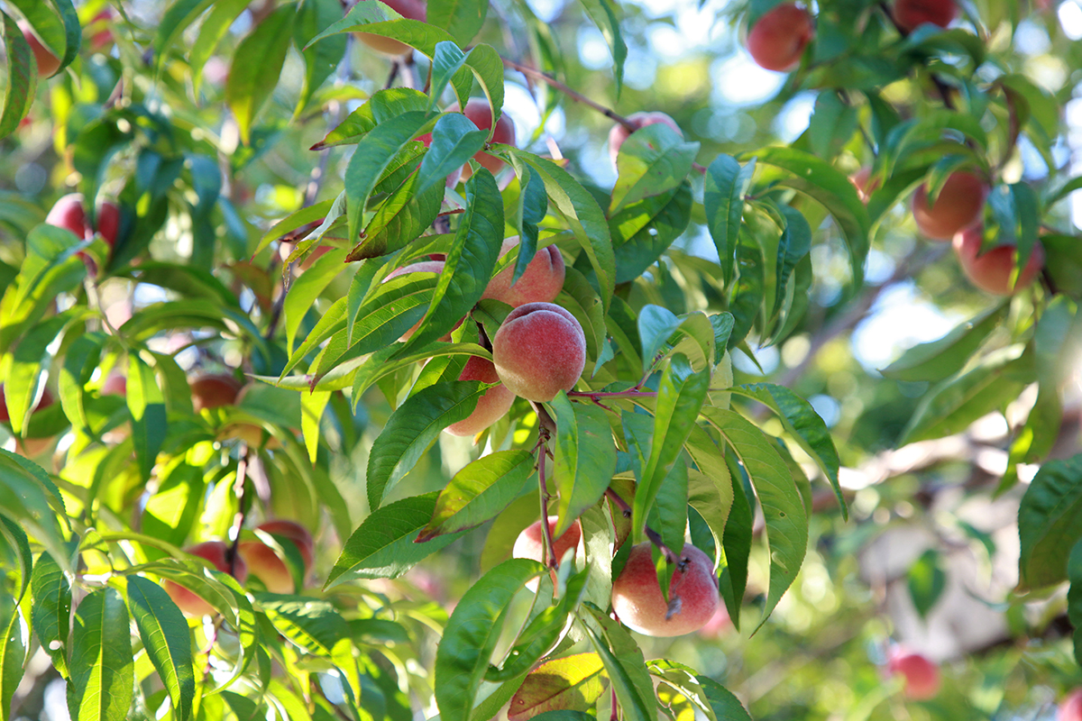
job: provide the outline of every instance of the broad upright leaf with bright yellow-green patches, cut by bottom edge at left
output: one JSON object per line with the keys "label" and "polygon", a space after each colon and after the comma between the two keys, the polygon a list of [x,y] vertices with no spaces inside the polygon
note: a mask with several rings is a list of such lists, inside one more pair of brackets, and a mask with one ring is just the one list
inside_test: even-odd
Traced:
{"label": "broad upright leaf with bright yellow-green patches, cut by bottom edge at left", "polygon": [[123,721],[135,684],[128,607],[115,588],[101,588],[75,610],[68,711],[72,721]]}

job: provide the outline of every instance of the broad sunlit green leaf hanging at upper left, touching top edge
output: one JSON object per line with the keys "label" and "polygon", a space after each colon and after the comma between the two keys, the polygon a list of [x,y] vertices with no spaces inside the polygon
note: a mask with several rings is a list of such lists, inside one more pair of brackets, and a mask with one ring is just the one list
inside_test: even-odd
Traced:
{"label": "broad sunlit green leaf hanging at upper left, touching top edge", "polygon": [[251,143],[255,116],[278,84],[295,23],[296,9],[282,5],[263,18],[237,45],[225,81],[225,102],[233,110],[245,145]]}

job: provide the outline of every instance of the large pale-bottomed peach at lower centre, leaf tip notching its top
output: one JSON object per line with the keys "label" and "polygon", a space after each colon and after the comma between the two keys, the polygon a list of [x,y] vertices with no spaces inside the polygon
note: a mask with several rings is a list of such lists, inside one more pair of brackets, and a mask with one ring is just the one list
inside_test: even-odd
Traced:
{"label": "large pale-bottomed peach at lower centre, leaf tip notching its top", "polygon": [[669,580],[669,600],[667,605],[661,596],[650,544],[632,547],[612,584],[612,610],[628,628],[645,636],[683,636],[699,630],[714,616],[721,597],[710,558],[684,544]]}

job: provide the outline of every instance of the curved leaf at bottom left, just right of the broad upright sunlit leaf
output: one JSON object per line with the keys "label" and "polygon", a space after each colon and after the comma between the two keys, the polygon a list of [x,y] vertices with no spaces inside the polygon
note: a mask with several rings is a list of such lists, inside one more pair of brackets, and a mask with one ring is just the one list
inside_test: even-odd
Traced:
{"label": "curved leaf at bottom left, just right of the broad upright sunlit leaf", "polygon": [[192,639],[184,615],[161,586],[142,576],[128,577],[128,603],[143,647],[169,692],[176,718],[183,721],[192,715],[196,693]]}

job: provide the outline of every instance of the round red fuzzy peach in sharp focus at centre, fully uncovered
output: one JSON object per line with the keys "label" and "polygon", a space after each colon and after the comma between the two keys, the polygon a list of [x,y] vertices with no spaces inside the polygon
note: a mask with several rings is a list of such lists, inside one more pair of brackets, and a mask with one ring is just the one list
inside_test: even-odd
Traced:
{"label": "round red fuzzy peach in sharp focus at centre, fully uncovered", "polygon": [[511,392],[551,401],[575,387],[586,366],[586,336],[575,316],[552,303],[527,303],[492,338],[496,372]]}

